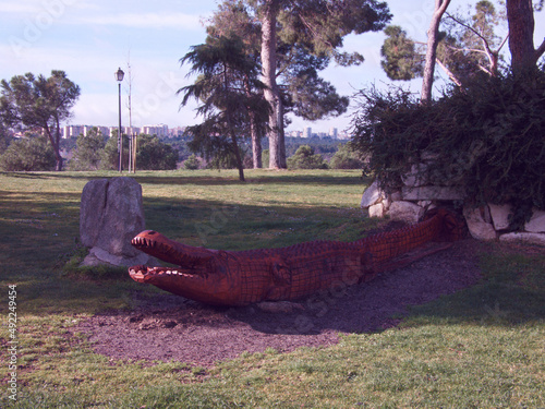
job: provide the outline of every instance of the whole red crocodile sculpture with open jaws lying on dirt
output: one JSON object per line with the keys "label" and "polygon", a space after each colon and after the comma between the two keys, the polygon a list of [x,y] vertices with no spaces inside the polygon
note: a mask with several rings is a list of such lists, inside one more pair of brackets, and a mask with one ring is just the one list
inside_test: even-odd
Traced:
{"label": "whole red crocodile sculpture with open jaws lying on dirt", "polygon": [[367,281],[446,246],[404,261],[399,260],[401,254],[429,241],[457,240],[462,231],[457,217],[445,209],[416,225],[351,243],[311,241],[281,249],[208,250],[146,230],[132,245],[179,267],[133,266],[129,274],[135,281],[214,305],[291,301],[337,285]]}

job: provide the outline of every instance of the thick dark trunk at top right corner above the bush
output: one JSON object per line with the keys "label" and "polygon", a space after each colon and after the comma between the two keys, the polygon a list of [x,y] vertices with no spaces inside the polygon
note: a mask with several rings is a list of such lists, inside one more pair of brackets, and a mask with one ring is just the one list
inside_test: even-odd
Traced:
{"label": "thick dark trunk at top right corner above the bush", "polygon": [[514,73],[535,69],[537,59],[545,51],[545,40],[534,48],[534,10],[532,0],[507,0],[509,50]]}

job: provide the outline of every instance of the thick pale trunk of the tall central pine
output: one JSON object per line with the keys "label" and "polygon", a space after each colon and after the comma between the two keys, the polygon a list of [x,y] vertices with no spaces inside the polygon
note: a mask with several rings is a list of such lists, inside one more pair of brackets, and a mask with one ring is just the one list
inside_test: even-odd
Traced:
{"label": "thick pale trunk of the tall central pine", "polygon": [[280,89],[276,82],[276,24],[278,0],[267,0],[264,4],[262,21],[262,74],[266,85],[264,96],[270,105],[269,113],[269,168],[286,169],[286,144],[283,137],[283,106]]}

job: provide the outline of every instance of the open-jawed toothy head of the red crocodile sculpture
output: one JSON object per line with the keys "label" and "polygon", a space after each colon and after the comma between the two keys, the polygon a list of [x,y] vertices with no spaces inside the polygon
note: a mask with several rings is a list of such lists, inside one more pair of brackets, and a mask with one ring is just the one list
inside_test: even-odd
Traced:
{"label": "open-jawed toothy head of the red crocodile sculpture", "polygon": [[141,232],[131,244],[175,265],[132,266],[129,275],[133,280],[208,304],[225,305],[231,299],[235,302],[240,292],[239,280],[237,275],[230,274],[225,252],[185,245],[153,230]]}

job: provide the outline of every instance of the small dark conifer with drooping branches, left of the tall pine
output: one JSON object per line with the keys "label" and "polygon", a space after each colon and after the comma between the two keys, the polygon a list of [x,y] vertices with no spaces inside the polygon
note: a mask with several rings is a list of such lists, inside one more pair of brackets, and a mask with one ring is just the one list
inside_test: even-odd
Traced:
{"label": "small dark conifer with drooping branches, left of the tall pine", "polygon": [[264,87],[254,61],[244,53],[240,38],[208,36],[206,44],[192,47],[181,62],[192,64],[190,73],[201,74],[193,85],[178,91],[183,95],[182,106],[190,98],[202,103],[197,112],[204,116],[204,122],[187,129],[193,135],[190,147],[206,156],[232,155],[244,181],[239,135],[247,135],[249,112],[258,118],[258,123],[264,123],[268,113],[267,104],[256,97],[257,93],[249,97],[245,92],[246,79],[252,87]]}

